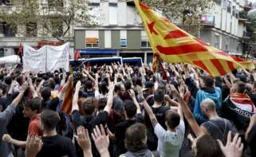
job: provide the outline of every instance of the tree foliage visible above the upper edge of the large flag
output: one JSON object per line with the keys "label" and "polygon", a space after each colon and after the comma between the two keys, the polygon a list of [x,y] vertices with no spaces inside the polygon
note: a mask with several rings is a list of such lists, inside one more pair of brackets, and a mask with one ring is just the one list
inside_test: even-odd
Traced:
{"label": "tree foliage visible above the upper edge of the large flag", "polygon": [[172,22],[181,21],[182,28],[196,34],[200,29],[200,17],[211,9],[215,0],[143,0],[154,10],[159,10]]}

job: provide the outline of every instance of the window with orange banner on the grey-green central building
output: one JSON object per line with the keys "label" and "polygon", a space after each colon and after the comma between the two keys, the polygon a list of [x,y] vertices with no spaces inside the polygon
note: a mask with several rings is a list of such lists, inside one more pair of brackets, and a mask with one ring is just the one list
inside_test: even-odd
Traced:
{"label": "window with orange banner on the grey-green central building", "polygon": [[85,43],[87,48],[98,48],[99,47],[99,31],[86,30]]}

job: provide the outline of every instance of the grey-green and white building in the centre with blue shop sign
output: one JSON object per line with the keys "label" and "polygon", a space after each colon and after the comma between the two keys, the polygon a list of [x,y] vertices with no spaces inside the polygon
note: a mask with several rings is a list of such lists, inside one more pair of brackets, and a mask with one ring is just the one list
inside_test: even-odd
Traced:
{"label": "grey-green and white building in the centre with blue shop sign", "polygon": [[133,0],[91,0],[89,6],[99,27],[75,27],[75,47],[83,57],[141,57],[144,62],[152,61],[151,45]]}

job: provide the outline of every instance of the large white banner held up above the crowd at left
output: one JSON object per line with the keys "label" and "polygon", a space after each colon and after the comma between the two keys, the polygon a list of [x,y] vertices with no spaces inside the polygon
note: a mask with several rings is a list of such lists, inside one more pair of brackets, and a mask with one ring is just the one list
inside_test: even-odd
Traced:
{"label": "large white banner held up above the crowd at left", "polygon": [[57,69],[69,71],[69,43],[61,46],[45,45],[41,49],[23,46],[23,69],[33,72],[53,72]]}

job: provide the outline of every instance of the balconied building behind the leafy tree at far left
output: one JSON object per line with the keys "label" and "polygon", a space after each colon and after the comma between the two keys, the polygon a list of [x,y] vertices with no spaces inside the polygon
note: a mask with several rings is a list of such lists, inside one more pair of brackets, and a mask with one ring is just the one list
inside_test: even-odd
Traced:
{"label": "balconied building behind the leafy tree at far left", "polygon": [[[38,7],[41,5],[49,5],[51,0],[39,0]],[[67,6],[69,0],[60,0],[61,6]],[[21,0],[2,0],[0,1],[0,10],[10,11],[18,10],[22,7]],[[64,27],[64,26],[63,26]],[[65,28],[60,29],[63,32]],[[39,48],[42,45],[61,45],[63,42],[58,41],[56,38],[43,36],[43,28],[40,22],[33,23],[31,26],[17,26],[15,30],[6,25],[6,22],[0,22],[0,57],[13,55],[18,52],[18,48],[21,44],[27,44],[34,48]],[[25,32],[25,33],[20,33]],[[28,34],[28,37],[26,37]],[[73,54],[73,29],[69,29],[69,32],[65,35],[65,41],[70,42],[70,53]]]}

